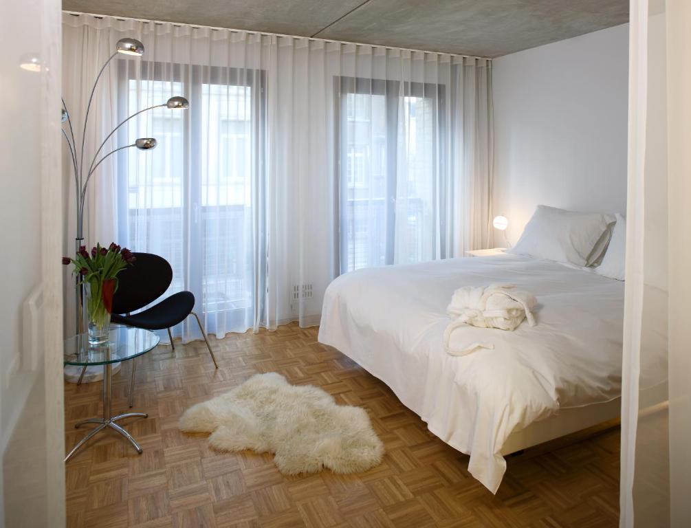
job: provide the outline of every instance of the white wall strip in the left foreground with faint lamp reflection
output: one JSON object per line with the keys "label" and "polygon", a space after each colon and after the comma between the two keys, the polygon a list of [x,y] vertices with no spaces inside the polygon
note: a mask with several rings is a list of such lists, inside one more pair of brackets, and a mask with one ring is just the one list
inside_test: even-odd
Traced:
{"label": "white wall strip in the left foreground with faint lamp reflection", "polygon": [[0,48],[0,527],[60,528],[60,1],[3,3]]}

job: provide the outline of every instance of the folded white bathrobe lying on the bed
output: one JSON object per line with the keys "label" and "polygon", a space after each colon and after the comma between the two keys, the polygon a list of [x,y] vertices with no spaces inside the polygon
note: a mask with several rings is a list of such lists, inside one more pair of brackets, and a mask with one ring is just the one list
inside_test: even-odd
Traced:
{"label": "folded white bathrobe lying on the bed", "polygon": [[462,356],[478,348],[494,348],[492,343],[484,341],[468,343],[461,348],[451,347],[451,334],[464,325],[515,330],[523,319],[527,319],[530,326],[535,326],[536,322],[531,309],[537,302],[533,294],[516,290],[515,285],[512,284],[459,288],[453,292],[451,304],[446,308],[446,313],[454,319],[444,332],[446,352],[452,356]]}

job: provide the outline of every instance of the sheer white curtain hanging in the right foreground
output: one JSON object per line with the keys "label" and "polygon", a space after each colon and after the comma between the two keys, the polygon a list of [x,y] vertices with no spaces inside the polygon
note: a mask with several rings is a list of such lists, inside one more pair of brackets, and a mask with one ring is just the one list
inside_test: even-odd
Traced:
{"label": "sheer white curtain hanging in the right foreground", "polygon": [[691,525],[690,27],[631,2],[622,527]]}

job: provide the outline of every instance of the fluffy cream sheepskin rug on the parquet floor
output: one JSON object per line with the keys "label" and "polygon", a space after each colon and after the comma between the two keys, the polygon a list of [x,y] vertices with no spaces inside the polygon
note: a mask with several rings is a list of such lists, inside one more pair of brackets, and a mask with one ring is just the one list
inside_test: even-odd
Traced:
{"label": "fluffy cream sheepskin rug on the parquet floor", "polygon": [[286,475],[366,471],[381,462],[384,444],[366,411],[337,405],[314,386],[293,386],[276,373],[257,374],[208,402],[187,409],[180,430],[211,433],[218,451],[274,453]]}

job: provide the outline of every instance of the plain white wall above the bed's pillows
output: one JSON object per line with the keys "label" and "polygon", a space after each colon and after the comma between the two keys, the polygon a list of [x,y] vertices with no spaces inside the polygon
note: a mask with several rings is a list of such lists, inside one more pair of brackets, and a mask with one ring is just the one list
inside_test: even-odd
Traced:
{"label": "plain white wall above the bed's pillows", "polygon": [[494,59],[493,214],[512,244],[538,204],[626,212],[628,31]]}

